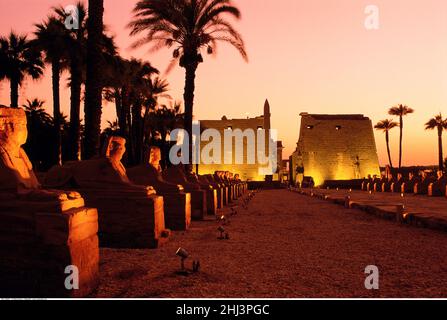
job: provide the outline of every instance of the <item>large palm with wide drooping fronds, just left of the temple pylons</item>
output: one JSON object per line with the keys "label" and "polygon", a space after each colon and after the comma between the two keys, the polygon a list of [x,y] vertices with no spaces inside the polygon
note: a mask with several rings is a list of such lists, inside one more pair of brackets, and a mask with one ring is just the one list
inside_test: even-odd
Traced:
{"label": "large palm with wide drooping fronds, just left of the temple pylons", "polygon": [[140,0],[134,8],[134,21],[129,24],[131,35],[146,32],[137,41],[138,47],[153,43],[153,49],[173,48],[171,65],[178,60],[185,69],[185,128],[189,134],[189,165],[192,169],[192,118],[196,71],[203,57],[216,52],[219,41],[235,47],[248,60],[240,34],[224,19],[225,15],[240,18],[240,11],[230,0]]}

